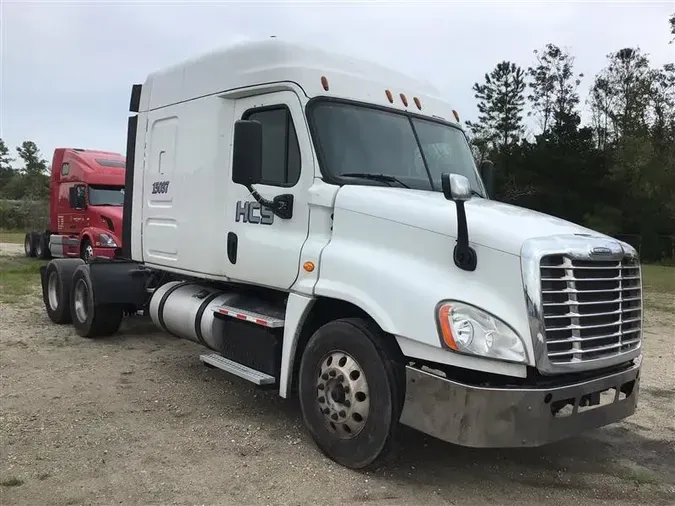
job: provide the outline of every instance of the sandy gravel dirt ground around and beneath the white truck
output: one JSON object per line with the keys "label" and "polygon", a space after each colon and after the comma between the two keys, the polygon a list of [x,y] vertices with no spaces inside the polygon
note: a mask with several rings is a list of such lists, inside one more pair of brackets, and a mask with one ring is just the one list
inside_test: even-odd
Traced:
{"label": "sandy gravel dirt ground around and beneath the white truck", "polygon": [[142,318],[82,339],[48,320],[36,288],[0,305],[0,503],[675,505],[672,308],[648,294],[626,421],[522,450],[402,428],[395,462],[362,473],[316,450],[297,401],[206,368],[203,348]]}

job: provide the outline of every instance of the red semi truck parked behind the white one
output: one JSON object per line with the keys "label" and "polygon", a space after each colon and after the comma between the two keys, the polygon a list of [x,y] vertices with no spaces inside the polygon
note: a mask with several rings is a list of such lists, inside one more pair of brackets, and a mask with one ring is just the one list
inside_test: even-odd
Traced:
{"label": "red semi truck parked behind the white one", "polygon": [[119,153],[57,148],[49,182],[49,227],[28,232],[26,256],[113,257],[122,246],[126,173]]}

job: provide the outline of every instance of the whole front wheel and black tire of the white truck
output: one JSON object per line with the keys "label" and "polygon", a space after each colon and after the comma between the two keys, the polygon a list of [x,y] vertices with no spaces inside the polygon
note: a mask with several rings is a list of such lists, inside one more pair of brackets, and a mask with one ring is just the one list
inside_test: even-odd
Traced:
{"label": "whole front wheel and black tire of the white truck", "polygon": [[345,318],[319,328],[302,355],[305,425],[327,457],[352,469],[385,458],[398,426],[405,370],[390,339],[369,321]]}

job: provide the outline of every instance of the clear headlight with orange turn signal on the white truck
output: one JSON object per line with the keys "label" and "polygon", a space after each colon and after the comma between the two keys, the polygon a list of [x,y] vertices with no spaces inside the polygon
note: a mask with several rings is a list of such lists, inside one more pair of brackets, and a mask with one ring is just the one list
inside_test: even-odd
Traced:
{"label": "clear headlight with orange turn signal on the white truck", "polygon": [[438,308],[443,342],[452,350],[470,355],[527,362],[525,343],[498,318],[462,302],[445,302]]}

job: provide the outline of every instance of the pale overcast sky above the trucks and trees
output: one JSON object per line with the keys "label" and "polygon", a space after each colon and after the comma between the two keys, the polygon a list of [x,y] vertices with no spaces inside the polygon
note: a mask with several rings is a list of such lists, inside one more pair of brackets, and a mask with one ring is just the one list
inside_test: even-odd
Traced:
{"label": "pale overcast sky above the trucks and trees", "polygon": [[[272,35],[355,55],[426,79],[462,120],[471,87],[496,63],[526,68],[548,42],[585,78],[610,52],[640,47],[675,61],[670,1],[31,1],[0,0],[0,137],[125,152],[131,85],[183,59]],[[533,126],[533,125],[532,125]]]}

